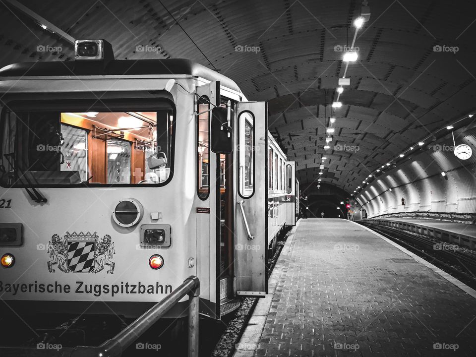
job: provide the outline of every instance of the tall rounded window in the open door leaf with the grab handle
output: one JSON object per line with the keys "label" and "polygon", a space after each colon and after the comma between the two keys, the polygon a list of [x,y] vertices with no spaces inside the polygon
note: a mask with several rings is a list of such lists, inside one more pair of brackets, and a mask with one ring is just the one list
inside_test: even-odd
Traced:
{"label": "tall rounded window in the open door leaf with the grab handle", "polygon": [[238,117],[238,189],[243,197],[253,194],[254,186],[254,127],[250,113]]}

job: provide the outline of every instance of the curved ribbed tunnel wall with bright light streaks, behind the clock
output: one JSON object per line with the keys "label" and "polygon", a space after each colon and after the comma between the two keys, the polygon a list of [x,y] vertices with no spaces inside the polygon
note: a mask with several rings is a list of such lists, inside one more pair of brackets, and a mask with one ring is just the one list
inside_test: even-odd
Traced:
{"label": "curved ribbed tunnel wall with bright light streaks, behind the clock", "polygon": [[396,167],[381,169],[383,173],[356,197],[368,217],[399,212],[475,213],[476,128],[455,131],[454,135],[456,145],[468,144],[473,149],[470,159],[460,160],[454,155],[450,133]]}

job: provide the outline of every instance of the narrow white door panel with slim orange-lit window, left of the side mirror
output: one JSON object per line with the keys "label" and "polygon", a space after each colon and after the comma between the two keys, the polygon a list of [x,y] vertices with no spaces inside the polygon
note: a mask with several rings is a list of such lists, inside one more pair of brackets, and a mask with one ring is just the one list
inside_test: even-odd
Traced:
{"label": "narrow white door panel with slim orange-lit window, left of the side mirror", "polygon": [[209,150],[210,110],[220,105],[220,82],[197,87],[197,276],[200,313],[220,318],[220,154]]}

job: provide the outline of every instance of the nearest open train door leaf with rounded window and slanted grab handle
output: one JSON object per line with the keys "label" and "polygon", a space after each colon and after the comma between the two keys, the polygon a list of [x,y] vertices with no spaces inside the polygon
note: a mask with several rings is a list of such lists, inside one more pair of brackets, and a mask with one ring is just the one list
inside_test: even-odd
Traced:
{"label": "nearest open train door leaf with rounded window and slanted grab handle", "polygon": [[238,102],[233,135],[236,293],[264,297],[268,292],[268,104]]}

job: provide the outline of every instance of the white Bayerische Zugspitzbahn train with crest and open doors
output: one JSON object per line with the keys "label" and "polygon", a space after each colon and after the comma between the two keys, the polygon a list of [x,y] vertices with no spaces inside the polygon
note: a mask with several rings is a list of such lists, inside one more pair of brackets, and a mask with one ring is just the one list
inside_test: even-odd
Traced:
{"label": "white Bayerische Zugspitzbahn train with crest and open doors", "polygon": [[266,102],[190,60],[116,60],[105,40],[3,67],[0,93],[2,311],[133,318],[191,275],[213,319],[265,296],[299,197]]}

